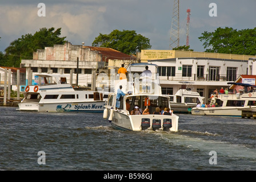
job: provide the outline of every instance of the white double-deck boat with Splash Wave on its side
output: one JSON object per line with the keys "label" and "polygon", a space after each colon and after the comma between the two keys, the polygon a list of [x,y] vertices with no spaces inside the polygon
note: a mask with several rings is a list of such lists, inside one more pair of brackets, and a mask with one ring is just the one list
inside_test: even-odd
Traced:
{"label": "white double-deck boat with Splash Wave on its side", "polygon": [[19,109],[42,112],[103,113],[107,95],[74,90],[63,75],[38,74],[38,85],[27,86]]}

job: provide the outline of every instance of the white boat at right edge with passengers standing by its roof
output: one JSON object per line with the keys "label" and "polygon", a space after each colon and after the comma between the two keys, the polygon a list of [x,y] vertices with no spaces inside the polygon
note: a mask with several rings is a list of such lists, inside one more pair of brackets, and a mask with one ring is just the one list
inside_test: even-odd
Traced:
{"label": "white boat at right edge with passengers standing by its roof", "polygon": [[[253,86],[250,84],[235,82],[229,82],[227,84],[240,85],[244,86],[245,88]],[[211,107],[194,107],[191,109],[191,114],[241,117],[241,109],[256,108],[255,90],[252,89],[250,92],[245,92],[245,90],[241,90],[240,93],[236,94],[219,94],[218,96],[213,95],[210,102]],[[212,107],[213,105],[215,107]]]}

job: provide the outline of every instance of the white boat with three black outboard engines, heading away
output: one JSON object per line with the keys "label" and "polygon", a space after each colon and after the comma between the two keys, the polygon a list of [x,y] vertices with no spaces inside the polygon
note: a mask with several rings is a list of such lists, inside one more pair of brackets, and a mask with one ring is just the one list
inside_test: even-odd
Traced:
{"label": "white boat with three black outboard engines, heading away", "polygon": [[[148,80],[140,75],[145,66],[148,66],[152,72]],[[163,106],[170,108],[170,98],[162,95],[161,86],[159,86],[158,66],[155,64],[131,64],[128,68],[128,79],[115,80],[114,92],[109,94],[106,102],[106,109],[103,118],[109,119],[111,126],[119,130],[164,130],[178,131],[178,116],[153,114],[156,107]],[[120,110],[116,108],[117,89],[122,85],[122,91],[126,94],[121,97]],[[127,110],[126,100],[130,101],[130,110]],[[142,110],[149,109],[150,114],[131,115],[130,111],[138,106]]]}

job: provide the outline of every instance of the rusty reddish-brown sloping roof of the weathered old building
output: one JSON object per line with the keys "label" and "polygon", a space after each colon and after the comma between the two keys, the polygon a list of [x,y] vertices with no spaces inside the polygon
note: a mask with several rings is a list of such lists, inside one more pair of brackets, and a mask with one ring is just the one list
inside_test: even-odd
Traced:
{"label": "rusty reddish-brown sloping roof of the weathered old building", "polygon": [[83,48],[90,48],[91,51],[98,51],[102,55],[102,61],[108,62],[109,59],[118,59],[118,60],[131,60],[135,59],[134,56],[127,55],[113,48],[107,47],[92,47],[92,46],[83,46]]}

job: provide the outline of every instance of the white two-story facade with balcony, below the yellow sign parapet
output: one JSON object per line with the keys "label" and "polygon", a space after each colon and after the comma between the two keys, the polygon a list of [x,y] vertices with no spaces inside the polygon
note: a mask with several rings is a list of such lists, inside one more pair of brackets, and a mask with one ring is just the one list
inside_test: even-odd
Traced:
{"label": "white two-story facade with balcony, below the yellow sign parapet", "polygon": [[193,82],[191,89],[205,97],[205,101],[213,90],[228,88],[227,82],[235,81],[240,75],[256,75],[254,61],[206,57],[148,60],[159,66],[163,94],[175,94],[181,88],[181,81],[189,81]]}

